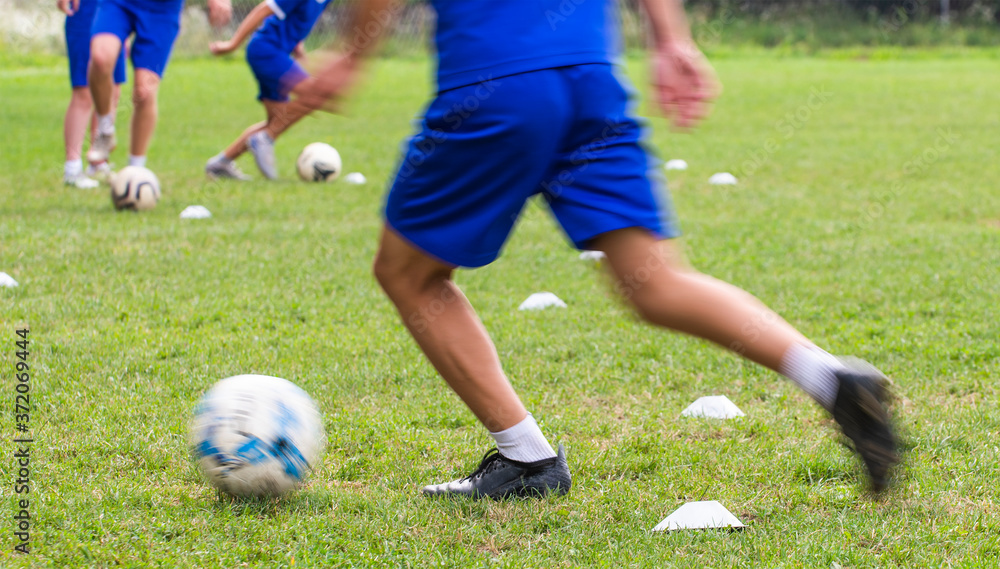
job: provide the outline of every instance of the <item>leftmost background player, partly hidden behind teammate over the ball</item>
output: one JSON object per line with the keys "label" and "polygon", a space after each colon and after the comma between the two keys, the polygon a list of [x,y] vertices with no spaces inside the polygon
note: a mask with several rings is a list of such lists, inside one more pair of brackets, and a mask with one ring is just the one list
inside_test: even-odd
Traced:
{"label": "leftmost background player, partly hidden behind teammate over the ball", "polygon": [[[63,121],[63,139],[66,143],[66,163],[63,166],[63,182],[82,190],[98,186],[88,174],[95,175],[108,169],[107,162],[89,164],[87,171],[83,169],[83,139],[87,135],[87,124],[91,125],[91,135],[97,129],[96,117],[93,116],[93,102],[90,99],[90,89],[87,88],[87,63],[90,61],[90,27],[97,13],[98,0],[57,0],[56,6],[66,14],[66,55],[69,57],[69,80],[72,95],[66,108],[66,118]],[[114,69],[114,88],[112,90],[112,108],[121,93],[121,84],[125,82],[125,55],[118,58]]]}

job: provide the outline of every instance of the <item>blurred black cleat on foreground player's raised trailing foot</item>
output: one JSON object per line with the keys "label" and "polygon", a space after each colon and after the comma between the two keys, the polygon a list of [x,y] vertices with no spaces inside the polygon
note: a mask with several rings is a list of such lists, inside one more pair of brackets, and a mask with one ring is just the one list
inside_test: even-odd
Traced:
{"label": "blurred black cleat on foreground player's raised trailing foot", "polygon": [[868,468],[872,490],[889,486],[889,471],[899,462],[896,436],[886,410],[886,379],[870,364],[846,361],[847,368],[836,372],[840,380],[833,418],[840,424],[854,449]]}

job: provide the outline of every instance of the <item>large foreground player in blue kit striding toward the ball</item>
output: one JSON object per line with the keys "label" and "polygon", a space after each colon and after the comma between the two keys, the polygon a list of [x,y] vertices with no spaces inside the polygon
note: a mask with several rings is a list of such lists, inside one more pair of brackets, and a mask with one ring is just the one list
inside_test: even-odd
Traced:
{"label": "large foreground player in blue kit striding toward the ball", "polygon": [[[681,128],[718,92],[682,0],[642,0],[653,89]],[[526,200],[541,194],[574,245],[603,251],[616,289],[645,320],[692,334],[801,387],[854,442],[876,491],[899,460],[885,378],[819,349],[748,293],[682,260],[658,162],[641,145],[630,88],[616,73],[614,0],[432,0],[438,93],[409,142],[385,206],[375,276],[406,327],[496,441],[468,477],[432,495],[540,496],[569,490],[552,449],[504,375],[452,280],[500,252]],[[300,87],[314,108],[343,96],[395,0],[358,0],[342,57]]]}

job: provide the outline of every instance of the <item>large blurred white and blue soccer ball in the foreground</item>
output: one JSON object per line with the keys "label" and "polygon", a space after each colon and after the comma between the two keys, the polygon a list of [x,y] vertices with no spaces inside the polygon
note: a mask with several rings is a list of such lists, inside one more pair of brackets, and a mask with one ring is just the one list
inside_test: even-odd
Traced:
{"label": "large blurred white and blue soccer ball in the foreground", "polygon": [[189,441],[213,486],[233,496],[267,498],[291,491],[316,467],[326,433],[316,404],[294,383],[237,375],[201,398]]}

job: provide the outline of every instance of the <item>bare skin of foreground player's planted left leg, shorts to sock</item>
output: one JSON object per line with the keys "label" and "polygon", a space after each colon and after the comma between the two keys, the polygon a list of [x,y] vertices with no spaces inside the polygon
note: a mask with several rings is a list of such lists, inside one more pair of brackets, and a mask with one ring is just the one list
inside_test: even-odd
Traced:
{"label": "bare skin of foreground player's planted left leg, shorts to sock", "polygon": [[374,270],[427,359],[487,429],[501,431],[527,417],[486,328],[451,280],[454,267],[386,227]]}

